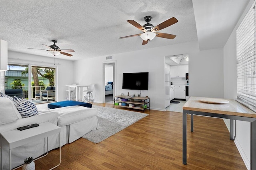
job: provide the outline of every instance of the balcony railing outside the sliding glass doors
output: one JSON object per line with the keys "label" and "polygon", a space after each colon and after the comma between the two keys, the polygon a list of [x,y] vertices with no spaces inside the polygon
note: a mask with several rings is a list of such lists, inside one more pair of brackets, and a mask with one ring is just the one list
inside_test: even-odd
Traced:
{"label": "balcony railing outside the sliding glass doors", "polygon": [[[55,87],[55,86],[32,86],[32,99],[36,99],[35,95],[40,93],[40,90],[46,90],[47,87]],[[14,89],[21,88],[23,91],[23,97],[28,98],[28,86],[16,86],[16,87],[5,87],[5,89]]]}

